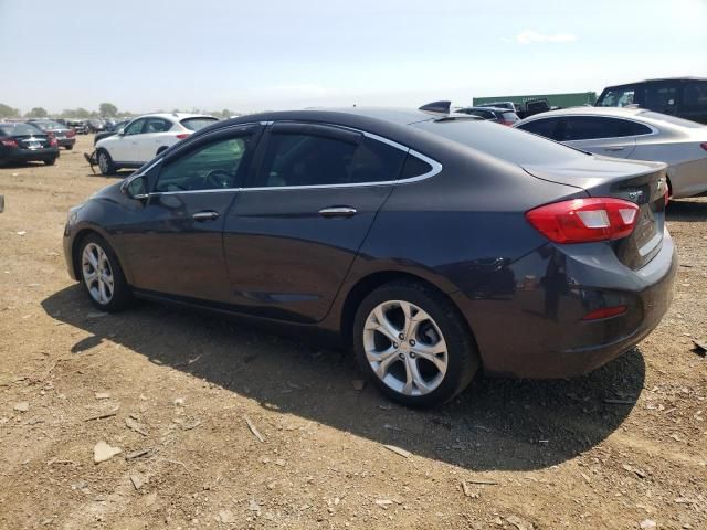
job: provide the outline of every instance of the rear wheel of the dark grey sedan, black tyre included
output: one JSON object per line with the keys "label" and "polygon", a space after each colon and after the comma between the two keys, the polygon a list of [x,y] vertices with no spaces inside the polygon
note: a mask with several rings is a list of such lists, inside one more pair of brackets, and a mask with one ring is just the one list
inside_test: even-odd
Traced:
{"label": "rear wheel of the dark grey sedan, black tyre included", "polygon": [[354,348],[373,384],[408,406],[452,400],[481,364],[456,307],[413,282],[386,284],[363,299],[354,322]]}

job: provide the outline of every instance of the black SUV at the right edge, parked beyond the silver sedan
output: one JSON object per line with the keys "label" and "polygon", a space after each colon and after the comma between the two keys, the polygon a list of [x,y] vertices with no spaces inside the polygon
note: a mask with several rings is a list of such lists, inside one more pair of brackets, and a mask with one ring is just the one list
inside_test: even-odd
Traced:
{"label": "black SUV at the right edge, parked beyond the silver sedan", "polygon": [[707,124],[707,80],[673,77],[609,86],[595,104],[597,107],[627,105]]}

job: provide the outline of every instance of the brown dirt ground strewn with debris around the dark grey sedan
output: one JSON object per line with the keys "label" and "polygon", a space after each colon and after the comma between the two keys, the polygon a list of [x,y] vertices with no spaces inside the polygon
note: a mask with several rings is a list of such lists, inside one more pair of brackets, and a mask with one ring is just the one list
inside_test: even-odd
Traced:
{"label": "brown dirt ground strewn with debris around the dark grey sedan", "polygon": [[[89,148],[0,169],[0,528],[707,528],[707,199],[669,208],[675,300],[637,348],[419,412],[356,390],[346,353],[96,314],[61,250],[67,209],[115,181]],[[122,452],[95,464],[99,442]]]}

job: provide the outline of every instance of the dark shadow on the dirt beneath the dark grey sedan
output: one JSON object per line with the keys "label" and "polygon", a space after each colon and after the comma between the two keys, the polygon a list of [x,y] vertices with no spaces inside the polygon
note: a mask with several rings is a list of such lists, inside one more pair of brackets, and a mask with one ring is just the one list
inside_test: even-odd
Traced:
{"label": "dark shadow on the dirt beneath the dark grey sedan", "polygon": [[80,285],[42,306],[91,333],[73,346],[74,354],[114,341],[271,411],[479,471],[542,469],[600,444],[631,412],[645,375],[643,356],[633,349],[573,380],[478,377],[452,403],[418,411],[391,404],[370,384],[356,391],[352,381],[360,374],[349,353],[220,316],[144,303],[88,318],[95,309]]}

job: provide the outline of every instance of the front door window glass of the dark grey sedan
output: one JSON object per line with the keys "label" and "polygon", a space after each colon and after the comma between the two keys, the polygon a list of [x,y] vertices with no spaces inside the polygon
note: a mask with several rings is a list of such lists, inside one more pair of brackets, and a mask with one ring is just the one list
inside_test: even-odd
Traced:
{"label": "front door window glass of the dark grey sedan", "polygon": [[228,138],[196,148],[169,162],[159,173],[155,191],[234,188],[249,137]]}

